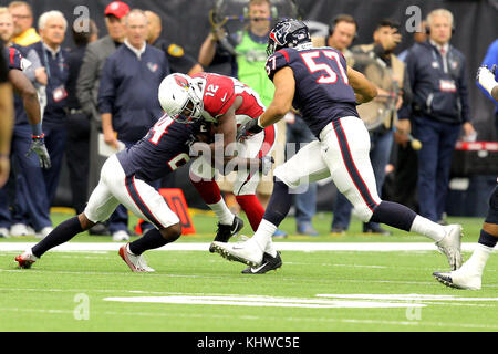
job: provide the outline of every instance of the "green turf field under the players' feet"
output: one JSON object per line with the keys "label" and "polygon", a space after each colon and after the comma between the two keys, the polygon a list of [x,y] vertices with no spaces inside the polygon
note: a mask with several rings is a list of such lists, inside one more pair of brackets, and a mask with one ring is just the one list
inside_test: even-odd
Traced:
{"label": "green turf field under the players' feet", "polygon": [[[54,214],[54,225],[70,215]],[[318,215],[320,237],[290,235],[280,242],[428,242],[396,231],[391,237],[328,233],[331,215]],[[132,225],[133,225],[132,219]],[[475,242],[481,219],[464,225]],[[209,242],[210,215],[195,215],[195,236]],[[247,223],[248,225],[248,223]],[[293,232],[294,220],[281,227]],[[250,233],[248,226],[242,230]],[[30,238],[1,242],[34,241]],[[111,242],[81,235],[79,242]],[[283,267],[245,275],[243,264],[207,251],[149,251],[155,273],[132,273],[115,251],[49,252],[30,270],[15,268],[18,251],[0,251],[0,331],[492,331],[498,330],[498,256],[491,254],[480,291],[454,290],[432,278],[446,270],[436,251],[282,251]],[[467,259],[469,252],[464,253]],[[20,321],[19,319],[22,319]]]}

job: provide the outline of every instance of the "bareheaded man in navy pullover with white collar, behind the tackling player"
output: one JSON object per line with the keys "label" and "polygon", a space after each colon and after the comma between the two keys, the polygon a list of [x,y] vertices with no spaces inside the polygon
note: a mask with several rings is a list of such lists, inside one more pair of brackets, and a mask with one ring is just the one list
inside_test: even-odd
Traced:
{"label": "bareheaded man in navy pullover with white collar, behind the tackling player", "polygon": [[[157,90],[169,74],[165,53],[146,43],[147,17],[142,10],[126,14],[124,44],[107,58],[98,88],[104,142],[113,147],[118,140],[132,146],[162,116]],[[158,183],[152,185],[158,187]],[[127,210],[120,206],[115,212],[122,214],[122,222],[110,225],[113,240],[127,240]]]}

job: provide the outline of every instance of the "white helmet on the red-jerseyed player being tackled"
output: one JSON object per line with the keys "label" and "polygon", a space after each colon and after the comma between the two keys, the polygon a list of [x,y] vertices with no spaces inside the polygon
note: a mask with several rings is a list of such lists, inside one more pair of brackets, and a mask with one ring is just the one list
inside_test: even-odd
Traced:
{"label": "white helmet on the red-jerseyed player being tackled", "polygon": [[188,124],[201,117],[203,93],[188,75],[166,76],[159,85],[158,98],[163,110],[178,123]]}

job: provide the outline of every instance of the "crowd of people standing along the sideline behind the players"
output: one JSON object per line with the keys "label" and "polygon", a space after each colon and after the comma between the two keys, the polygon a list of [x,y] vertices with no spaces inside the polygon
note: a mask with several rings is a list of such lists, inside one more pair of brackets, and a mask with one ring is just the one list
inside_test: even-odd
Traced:
{"label": "crowd of people standing along the sideline behind the players", "polygon": [[[143,10],[147,9],[110,2],[103,13],[106,33],[102,34],[95,22],[69,24],[56,10],[34,19],[30,4],[23,1],[0,8],[4,56],[10,71],[23,73],[18,80],[24,84],[20,88],[21,84],[9,75],[17,90],[11,147],[7,156],[1,155],[2,159],[10,156],[12,168],[0,190],[0,237],[34,235],[43,239],[53,230],[50,207],[64,156],[72,207],[76,214],[82,212],[98,181],[106,158],[103,150],[132,146],[162,116],[157,91],[169,73],[195,75],[230,62],[232,76],[258,92],[263,104],[271,102],[273,90],[264,71],[264,50],[272,27],[270,0],[250,0],[248,28],[229,35],[221,29],[209,33],[198,58],[187,54],[180,44],[164,40],[159,15]],[[467,139],[475,136],[466,82],[466,71],[471,69],[466,67],[464,54],[450,44],[454,19],[448,10],[432,11],[415,33],[415,44],[395,55],[403,40],[400,27],[393,20],[382,20],[372,33],[372,43],[359,44],[359,23],[349,14],[340,14],[330,21],[328,35],[313,38],[313,43],[339,50],[351,66],[355,61],[357,64],[359,58],[372,56],[388,69],[391,76],[386,81],[391,84],[378,87],[380,95],[374,100],[376,107],[388,108],[381,124],[369,129],[378,194],[386,174],[392,174],[393,201],[444,225],[455,144],[461,135]],[[66,33],[72,34],[72,50],[62,45]],[[497,43],[491,44],[484,60],[488,66],[497,63]],[[498,113],[496,117],[498,124]],[[277,165],[291,157],[284,156],[286,143],[314,139],[299,112],[289,112],[278,127],[280,148],[273,152]],[[411,144],[414,140],[422,146]],[[172,177],[156,181],[154,187],[173,187]],[[231,210],[246,209],[247,198],[232,195],[226,180],[219,184]],[[271,190],[268,180],[258,189],[264,207]],[[312,226],[317,186],[310,184],[304,192],[297,192],[293,205],[298,233],[317,236]],[[332,233],[346,232],[351,211],[349,201],[339,195]],[[262,215],[263,210],[258,212]],[[143,230],[149,228],[153,226],[142,225]],[[363,231],[388,233],[374,222],[365,223]],[[90,233],[128,240],[133,233],[128,211],[123,206],[116,208],[107,222],[95,225]],[[286,237],[286,232],[277,230],[273,237]]]}

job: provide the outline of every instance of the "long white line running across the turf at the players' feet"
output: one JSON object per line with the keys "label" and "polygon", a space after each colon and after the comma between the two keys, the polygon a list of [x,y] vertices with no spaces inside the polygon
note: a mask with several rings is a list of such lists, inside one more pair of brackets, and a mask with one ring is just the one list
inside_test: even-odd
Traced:
{"label": "long white line running across the turf at the players' feet", "polygon": [[[37,242],[0,242],[2,251],[23,251]],[[118,242],[68,242],[55,247],[51,251],[102,252],[117,251],[123,243]],[[177,242],[169,243],[155,251],[207,251],[209,242]],[[430,242],[274,242],[280,251],[435,251],[436,246]],[[461,243],[463,251],[473,251],[476,242]],[[495,249],[498,252],[498,249]]]}

